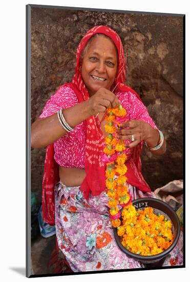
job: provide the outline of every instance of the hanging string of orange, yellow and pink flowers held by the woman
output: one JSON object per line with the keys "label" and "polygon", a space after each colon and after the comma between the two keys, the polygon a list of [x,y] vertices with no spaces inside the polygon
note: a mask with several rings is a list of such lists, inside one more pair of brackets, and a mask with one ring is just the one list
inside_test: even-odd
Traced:
{"label": "hanging string of orange, yellow and pink flowers held by the woman", "polygon": [[105,185],[108,189],[111,223],[113,227],[119,227],[121,224],[119,206],[124,207],[131,203],[131,196],[126,186],[127,156],[123,153],[124,141],[118,139],[116,133],[116,129],[126,121],[126,111],[121,105],[115,109],[108,109],[105,120],[108,122],[105,131],[109,133],[105,137],[103,149],[103,161],[107,164]]}

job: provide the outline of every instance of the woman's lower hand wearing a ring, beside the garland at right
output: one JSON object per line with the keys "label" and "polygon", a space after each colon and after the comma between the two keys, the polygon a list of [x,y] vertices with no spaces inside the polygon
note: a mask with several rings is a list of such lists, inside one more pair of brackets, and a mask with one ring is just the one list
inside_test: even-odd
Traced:
{"label": "woman's lower hand wearing a ring, beside the garland at right", "polygon": [[[127,123],[123,123],[116,132],[121,140],[132,140],[132,143],[126,145],[127,148],[137,146],[142,140],[149,142],[152,137],[155,139],[154,142],[156,141],[155,146],[159,142],[158,131],[142,120],[132,119]],[[134,141],[132,137],[134,137]]]}

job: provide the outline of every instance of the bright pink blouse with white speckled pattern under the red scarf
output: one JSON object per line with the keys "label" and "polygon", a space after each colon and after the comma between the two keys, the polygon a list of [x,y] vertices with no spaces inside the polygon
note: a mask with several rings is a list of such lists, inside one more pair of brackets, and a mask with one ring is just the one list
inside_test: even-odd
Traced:
{"label": "bright pink blouse with white speckled pattern under the red scarf", "polygon": [[[147,112],[143,103],[130,91],[118,91],[115,93],[119,98],[121,105],[125,108],[127,119],[139,119],[149,123],[153,128],[157,128]],[[78,104],[75,92],[62,85],[46,103],[40,118],[48,117],[56,113],[59,109],[67,109]],[[86,134],[85,125],[81,124],[75,127],[75,130],[68,132],[54,142],[54,159],[56,163],[65,168],[85,168],[85,144]],[[128,158],[131,150],[126,149]]]}

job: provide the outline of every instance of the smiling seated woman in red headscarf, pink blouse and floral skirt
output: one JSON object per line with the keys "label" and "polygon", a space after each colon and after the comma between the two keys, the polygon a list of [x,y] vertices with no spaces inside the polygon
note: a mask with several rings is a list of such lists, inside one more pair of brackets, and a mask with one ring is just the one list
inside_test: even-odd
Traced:
{"label": "smiling seated woman in red headscarf, pink blouse and floral skirt", "polygon": [[133,199],[154,197],[141,174],[142,143],[155,155],[163,154],[166,144],[124,81],[119,36],[108,27],[94,27],[78,46],[72,83],[56,91],[32,125],[32,147],[48,146],[43,216],[55,223],[58,248],[74,272],[142,267],[117,247],[110,223],[102,162],[107,109],[121,104],[127,113],[128,122],[117,133],[126,144],[126,176]]}

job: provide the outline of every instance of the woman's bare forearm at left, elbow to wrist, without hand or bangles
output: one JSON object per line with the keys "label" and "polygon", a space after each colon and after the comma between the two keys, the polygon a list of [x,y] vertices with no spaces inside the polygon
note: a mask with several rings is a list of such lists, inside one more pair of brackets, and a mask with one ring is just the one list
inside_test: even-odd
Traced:
{"label": "woman's bare forearm at left, elbow to wrist, without hand or bangles", "polygon": [[[63,111],[67,123],[71,127],[83,122],[91,116],[88,100]],[[52,144],[67,131],[61,126],[57,113],[46,118],[38,118],[31,127],[31,146],[43,148]]]}

